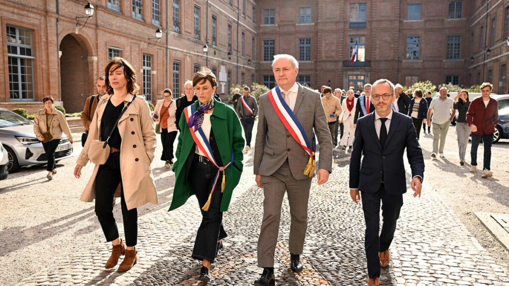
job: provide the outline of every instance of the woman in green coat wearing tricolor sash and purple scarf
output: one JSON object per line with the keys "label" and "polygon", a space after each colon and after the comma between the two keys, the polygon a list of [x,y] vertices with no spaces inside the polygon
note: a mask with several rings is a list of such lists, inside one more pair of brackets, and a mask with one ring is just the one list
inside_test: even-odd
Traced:
{"label": "woman in green coat wearing tricolor sash and purple scarf", "polygon": [[[174,210],[195,194],[202,212],[192,258],[202,261],[200,281],[210,281],[210,264],[227,237],[222,212],[228,210],[233,189],[242,173],[245,140],[239,118],[232,107],[215,101],[217,81],[207,68],[197,72],[193,88],[198,100],[182,113],[177,145]],[[192,131],[191,131],[192,130]]]}

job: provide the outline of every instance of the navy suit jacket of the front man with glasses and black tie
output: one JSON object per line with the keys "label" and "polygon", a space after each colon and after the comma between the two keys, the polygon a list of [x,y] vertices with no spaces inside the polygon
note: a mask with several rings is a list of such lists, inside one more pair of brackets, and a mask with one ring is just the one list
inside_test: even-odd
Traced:
{"label": "navy suit jacket of the front man with glasses and black tie", "polygon": [[[375,193],[383,180],[389,194],[407,191],[403,153],[407,150],[412,178],[424,179],[424,158],[412,119],[392,110],[389,132],[382,148],[375,130],[375,113],[359,118],[350,158],[350,188]],[[361,163],[361,157],[362,163]]]}

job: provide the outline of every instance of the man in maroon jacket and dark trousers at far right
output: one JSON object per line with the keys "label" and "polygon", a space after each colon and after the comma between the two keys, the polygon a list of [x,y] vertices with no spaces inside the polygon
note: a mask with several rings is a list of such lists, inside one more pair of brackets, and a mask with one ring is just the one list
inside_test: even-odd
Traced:
{"label": "man in maroon jacket and dark trousers at far right", "polygon": [[490,169],[491,144],[493,143],[493,133],[498,123],[498,102],[490,98],[493,84],[483,82],[480,85],[480,92],[483,96],[478,97],[470,103],[467,111],[467,123],[472,131],[472,148],[470,149],[470,171],[475,173],[477,167],[477,147],[480,140],[483,139],[484,145],[484,166],[481,177],[488,178],[493,176]]}

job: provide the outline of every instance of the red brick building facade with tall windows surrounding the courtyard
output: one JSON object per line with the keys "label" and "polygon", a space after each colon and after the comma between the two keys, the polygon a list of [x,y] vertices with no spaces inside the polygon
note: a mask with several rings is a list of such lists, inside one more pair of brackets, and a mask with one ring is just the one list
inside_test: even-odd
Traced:
{"label": "red brick building facade with tall windows surrounding the courtyard", "polygon": [[80,111],[115,55],[135,67],[151,102],[165,88],[181,94],[200,66],[216,73],[218,94],[253,81],[272,86],[275,53],[293,54],[298,80],[314,88],[384,77],[491,81],[508,93],[509,0],[96,0],[81,29],[86,1],[0,1],[0,107],[31,113],[45,95]]}

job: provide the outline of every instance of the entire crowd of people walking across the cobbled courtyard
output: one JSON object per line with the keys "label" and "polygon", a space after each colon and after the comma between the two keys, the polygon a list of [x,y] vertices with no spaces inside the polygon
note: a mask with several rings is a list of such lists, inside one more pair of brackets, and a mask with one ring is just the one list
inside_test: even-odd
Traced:
{"label": "entire crowd of people walking across the cobbled courtyard", "polygon": [[[86,132],[74,169],[74,176],[80,178],[83,166],[89,161],[95,164],[80,199],[95,201],[104,237],[111,242],[106,269],[115,267],[122,255],[119,272],[128,271],[137,262],[137,208],[158,202],[151,166],[156,134],[162,143],[160,160],[176,178],[168,211],[178,209],[192,195],[200,206],[202,221],[191,256],[202,264],[199,280],[203,282],[211,280],[211,264],[228,237],[223,212],[228,211],[239,183],[244,155],[251,150],[256,120],[253,173],[254,182],[263,188],[264,215],[258,239],[258,266],[263,273],[254,285],[275,283],[274,253],[285,194],[291,213],[290,268],[302,270],[300,255],[310,186],[315,176],[319,185],[328,181],[333,149],[351,153],[350,195],[355,203],[361,198],[363,201],[368,285],[379,285],[380,268],[390,264],[389,247],[407,191],[405,151],[413,196],[420,197],[425,170],[418,142],[421,129],[433,134],[431,157],[444,157],[447,131],[458,110],[460,164],[465,164],[471,136],[470,171],[476,171],[477,148],[482,140],[482,177],[493,175],[490,148],[498,107],[490,98],[490,83],[483,83],[482,97],[470,102],[465,90],[453,99],[447,96],[446,88],[441,88],[440,95],[432,98],[430,92],[423,94],[420,89],[404,93],[402,85],[387,79],[365,84],[362,92],[354,87],[332,90],[325,85],[318,92],[296,81],[299,63],[288,54],[275,55],[272,69],[277,85],[258,100],[243,87],[242,95],[240,89],[235,90],[233,107],[222,103],[215,93],[216,75],[202,68],[185,82],[182,97],[174,100],[172,91],[165,89],[162,100],[151,111],[139,94],[134,68],[118,57],[108,62],[105,75],[97,78],[98,94],[87,98],[83,107],[81,120]],[[56,174],[54,150],[62,133],[73,141],[53,99],[45,97],[43,102],[34,132],[43,141],[48,155],[47,177],[51,179]],[[120,238],[113,215],[116,197],[121,198],[125,239]],[[379,232],[381,205],[383,224]]]}

